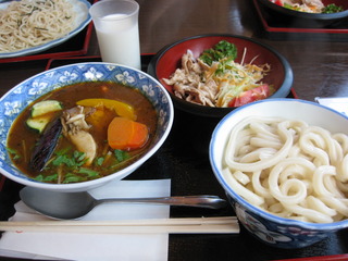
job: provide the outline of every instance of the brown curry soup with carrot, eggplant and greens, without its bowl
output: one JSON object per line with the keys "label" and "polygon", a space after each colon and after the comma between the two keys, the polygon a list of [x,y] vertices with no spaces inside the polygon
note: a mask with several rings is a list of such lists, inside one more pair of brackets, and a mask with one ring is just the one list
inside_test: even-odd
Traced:
{"label": "brown curry soup with carrot, eggplant and greens, without its bowl", "polygon": [[53,90],[14,121],[8,151],[15,166],[45,183],[85,182],[114,173],[147,151],[157,128],[151,102],[116,83]]}

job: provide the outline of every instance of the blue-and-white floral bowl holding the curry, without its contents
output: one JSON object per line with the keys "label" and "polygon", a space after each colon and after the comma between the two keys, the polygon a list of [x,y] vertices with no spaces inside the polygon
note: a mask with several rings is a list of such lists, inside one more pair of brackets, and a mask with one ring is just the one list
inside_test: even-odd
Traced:
{"label": "blue-and-white floral bowl holding the curry, without its contents", "polygon": [[[7,151],[9,129],[16,116],[34,100],[60,87],[82,82],[112,80],[139,89],[153,104],[158,113],[158,129],[148,152],[132,165],[109,176],[75,184],[46,184],[33,181],[11,162]],[[173,124],[174,109],[164,87],[148,74],[112,63],[77,63],[52,69],[35,75],[8,91],[0,99],[0,173],[26,186],[60,191],[80,191],[121,179],[146,162],[166,139]]]}

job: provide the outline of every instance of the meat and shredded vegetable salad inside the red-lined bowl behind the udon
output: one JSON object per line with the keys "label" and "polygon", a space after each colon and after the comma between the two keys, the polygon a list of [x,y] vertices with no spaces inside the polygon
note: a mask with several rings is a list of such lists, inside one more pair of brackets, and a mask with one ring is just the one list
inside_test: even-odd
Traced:
{"label": "meat and shredded vegetable salad inside the red-lined bowl behind the udon", "polygon": [[240,63],[235,45],[222,40],[195,59],[188,50],[182,58],[182,69],[163,79],[173,86],[175,96],[189,102],[210,107],[239,107],[264,99],[274,92],[273,86],[262,83],[271,71],[269,64]]}

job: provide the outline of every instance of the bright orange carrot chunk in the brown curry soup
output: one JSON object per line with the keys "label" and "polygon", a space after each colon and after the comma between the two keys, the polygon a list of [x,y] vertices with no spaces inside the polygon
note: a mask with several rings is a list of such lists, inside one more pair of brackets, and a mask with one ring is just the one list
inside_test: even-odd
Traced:
{"label": "bright orange carrot chunk in the brown curry soup", "polygon": [[108,127],[108,142],[113,149],[141,148],[148,139],[148,127],[126,117],[114,117]]}

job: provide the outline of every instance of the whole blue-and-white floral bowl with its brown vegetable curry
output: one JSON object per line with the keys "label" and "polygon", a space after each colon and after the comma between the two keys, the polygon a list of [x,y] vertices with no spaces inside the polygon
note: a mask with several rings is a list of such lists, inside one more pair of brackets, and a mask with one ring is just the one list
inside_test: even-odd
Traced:
{"label": "whole blue-and-white floral bowl with its brown vegetable curry", "polygon": [[26,186],[79,191],[121,179],[166,139],[174,119],[164,87],[112,63],[35,75],[0,100],[0,172]]}

